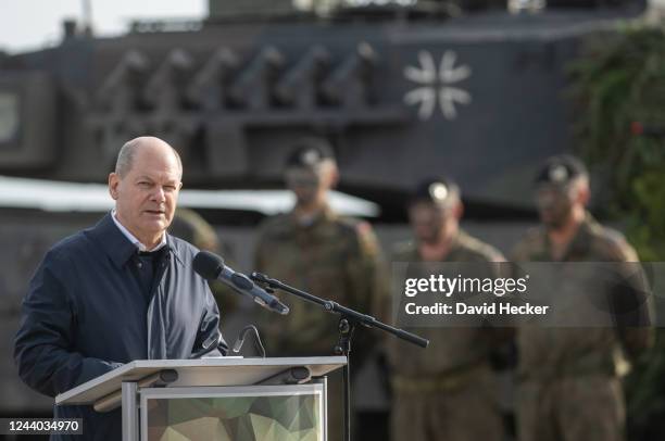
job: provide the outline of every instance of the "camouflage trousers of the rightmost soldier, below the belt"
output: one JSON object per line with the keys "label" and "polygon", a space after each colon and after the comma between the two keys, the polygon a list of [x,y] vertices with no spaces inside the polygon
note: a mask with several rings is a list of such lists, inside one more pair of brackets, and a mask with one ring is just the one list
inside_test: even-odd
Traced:
{"label": "camouflage trousers of the rightmost soldier, below the belt", "polygon": [[604,375],[525,381],[518,387],[519,441],[622,441],[620,380]]}

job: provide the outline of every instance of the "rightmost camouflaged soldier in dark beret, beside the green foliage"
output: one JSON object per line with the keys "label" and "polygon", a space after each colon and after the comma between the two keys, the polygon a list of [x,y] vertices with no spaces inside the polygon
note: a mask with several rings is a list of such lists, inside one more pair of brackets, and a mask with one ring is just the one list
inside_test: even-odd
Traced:
{"label": "rightmost camouflaged soldier in dark beret, beside the green foliage", "polygon": [[[536,179],[536,201],[543,225],[516,245],[513,260],[616,262],[617,267],[623,265],[629,270],[626,262],[638,261],[635,250],[620,234],[591,217],[586,211],[588,200],[589,179],[584,164],[568,155],[548,160]],[[639,292],[640,287],[636,287],[628,294]],[[586,293],[579,294],[581,299]],[[649,302],[642,304],[644,315],[637,323],[642,326],[519,327],[520,441],[624,439],[625,408],[617,355],[635,358],[651,342]]]}

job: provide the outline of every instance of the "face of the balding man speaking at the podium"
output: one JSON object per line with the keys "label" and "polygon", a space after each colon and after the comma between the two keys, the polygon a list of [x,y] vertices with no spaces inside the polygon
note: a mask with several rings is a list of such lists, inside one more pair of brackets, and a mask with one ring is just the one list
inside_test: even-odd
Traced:
{"label": "face of the balding man speaking at the podium", "polygon": [[161,238],[176,209],[181,171],[171,148],[146,146],[123,177],[112,173],[109,190],[121,223],[141,242]]}

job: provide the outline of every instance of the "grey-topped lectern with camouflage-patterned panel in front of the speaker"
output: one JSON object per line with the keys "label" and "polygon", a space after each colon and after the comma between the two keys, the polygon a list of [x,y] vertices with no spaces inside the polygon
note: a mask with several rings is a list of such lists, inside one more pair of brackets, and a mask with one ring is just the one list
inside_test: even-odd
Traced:
{"label": "grey-topped lectern with camouflage-patterned panel in front of the speaker", "polygon": [[327,441],[326,375],[346,356],[135,361],[55,396],[122,406],[124,441]]}

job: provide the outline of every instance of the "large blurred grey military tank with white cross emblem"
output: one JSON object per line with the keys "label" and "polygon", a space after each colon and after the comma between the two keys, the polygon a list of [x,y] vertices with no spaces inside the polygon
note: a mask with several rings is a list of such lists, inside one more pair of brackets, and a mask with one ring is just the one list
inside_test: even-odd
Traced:
{"label": "large blurred grey military tank with white cross emblem", "polygon": [[[293,3],[210,0],[201,22],[135,22],[113,38],[67,22],[54,47],[0,54],[0,175],[104,182],[120,146],[153,134],[180,151],[188,188],[272,188],[290,142],[316,135],[336,149],[340,189],[378,203],[380,220],[403,222],[414,184],[448,174],[467,214],[485,220],[475,232],[501,245],[531,215],[534,168],[570,148],[562,91],[581,39],[644,10]],[[0,413],[48,414],[50,400],[11,363],[20,299],[41,252],[95,216],[5,207],[0,217]]]}

